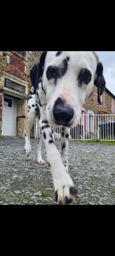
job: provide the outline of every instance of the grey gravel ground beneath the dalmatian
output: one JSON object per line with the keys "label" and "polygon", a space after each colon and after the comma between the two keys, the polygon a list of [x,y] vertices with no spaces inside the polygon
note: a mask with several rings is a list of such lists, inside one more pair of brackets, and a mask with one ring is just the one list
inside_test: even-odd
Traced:
{"label": "grey gravel ground beneath the dalmatian", "polygon": [[[0,205],[55,205],[49,166],[37,165],[37,139],[31,143],[26,158],[24,138],[0,138]],[[44,145],[42,152],[46,160]],[[115,147],[70,142],[68,159],[78,189],[72,205],[115,204]]]}

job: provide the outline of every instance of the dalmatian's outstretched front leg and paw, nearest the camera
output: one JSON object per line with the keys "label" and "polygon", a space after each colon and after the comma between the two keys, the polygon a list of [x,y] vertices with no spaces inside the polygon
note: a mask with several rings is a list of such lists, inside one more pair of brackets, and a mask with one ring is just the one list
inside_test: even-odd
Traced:
{"label": "dalmatian's outstretched front leg and paw, nearest the camera", "polygon": [[49,125],[46,118],[40,120],[40,127],[42,129],[47,159],[55,186],[55,201],[58,201],[60,204],[67,204],[73,200],[73,196],[77,193],[77,190],[74,188],[72,178],[62,164],[60,153],[52,137],[51,125]]}

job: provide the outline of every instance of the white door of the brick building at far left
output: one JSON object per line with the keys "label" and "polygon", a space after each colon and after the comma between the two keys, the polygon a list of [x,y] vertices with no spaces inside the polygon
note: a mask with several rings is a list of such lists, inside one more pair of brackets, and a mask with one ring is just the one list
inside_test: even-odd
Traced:
{"label": "white door of the brick building at far left", "polygon": [[17,101],[8,96],[3,100],[3,136],[16,136]]}

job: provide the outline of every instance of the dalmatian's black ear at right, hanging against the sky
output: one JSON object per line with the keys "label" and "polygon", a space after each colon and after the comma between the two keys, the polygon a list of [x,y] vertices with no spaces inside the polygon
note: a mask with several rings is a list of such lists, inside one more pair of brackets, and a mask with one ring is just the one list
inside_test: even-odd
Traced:
{"label": "dalmatian's black ear at right, hanging against the sky", "polygon": [[97,87],[98,91],[98,102],[101,104],[101,95],[103,94],[104,90],[106,89],[106,81],[103,76],[103,66],[101,62],[98,63],[96,68],[96,74],[95,74],[95,86]]}

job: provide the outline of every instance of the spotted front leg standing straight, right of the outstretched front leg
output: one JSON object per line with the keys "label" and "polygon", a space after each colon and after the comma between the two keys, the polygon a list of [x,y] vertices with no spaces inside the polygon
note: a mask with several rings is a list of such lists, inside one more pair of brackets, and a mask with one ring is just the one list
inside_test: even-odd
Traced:
{"label": "spotted front leg standing straight, right of the outstretched front leg", "polygon": [[68,143],[69,143],[70,129],[63,127],[61,131],[61,160],[68,172]]}

